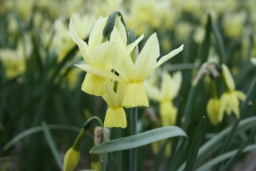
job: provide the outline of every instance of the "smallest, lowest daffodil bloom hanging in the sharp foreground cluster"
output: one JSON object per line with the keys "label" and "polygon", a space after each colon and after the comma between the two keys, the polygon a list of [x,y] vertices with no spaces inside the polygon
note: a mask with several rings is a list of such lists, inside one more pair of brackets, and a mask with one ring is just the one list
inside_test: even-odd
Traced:
{"label": "smallest, lowest daffodil bloom hanging in the sharp foreground cluster", "polygon": [[121,127],[126,128],[126,112],[122,108],[123,88],[124,83],[118,82],[117,93],[105,83],[106,94],[102,97],[106,101],[109,108],[106,111],[106,117],[104,121],[105,127]]}

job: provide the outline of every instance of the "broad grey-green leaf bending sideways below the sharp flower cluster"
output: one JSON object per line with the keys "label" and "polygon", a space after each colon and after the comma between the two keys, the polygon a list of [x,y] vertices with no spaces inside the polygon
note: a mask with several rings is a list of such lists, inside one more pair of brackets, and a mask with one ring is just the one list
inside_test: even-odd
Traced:
{"label": "broad grey-green leaf bending sideways below the sharp flower cluster", "polygon": [[186,133],[177,126],[166,126],[152,129],[144,133],[138,133],[130,137],[122,137],[111,141],[103,142],[90,150],[90,153],[101,154],[114,151],[133,149],[142,145],[150,144],[154,141],[163,140],[169,137],[187,137]]}

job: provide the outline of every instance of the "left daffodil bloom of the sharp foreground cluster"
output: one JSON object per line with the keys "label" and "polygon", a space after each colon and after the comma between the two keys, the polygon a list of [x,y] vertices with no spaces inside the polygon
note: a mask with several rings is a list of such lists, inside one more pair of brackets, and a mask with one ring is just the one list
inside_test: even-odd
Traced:
{"label": "left daffodil bloom of the sharp foreground cluster", "polygon": [[[106,70],[112,70],[115,63],[117,63],[120,58],[120,50],[118,49],[116,42],[102,42],[102,31],[106,26],[106,22],[107,18],[98,18],[94,24],[92,32],[90,33],[87,45],[86,42],[78,37],[72,20],[70,19],[71,38],[78,45],[86,65],[90,68],[92,67],[103,70],[103,72]],[[80,68],[83,70],[83,67]],[[106,93],[104,82],[106,82],[106,77],[102,77],[100,74],[92,74],[88,71],[86,78],[82,83],[82,90],[86,93],[102,96]]]}

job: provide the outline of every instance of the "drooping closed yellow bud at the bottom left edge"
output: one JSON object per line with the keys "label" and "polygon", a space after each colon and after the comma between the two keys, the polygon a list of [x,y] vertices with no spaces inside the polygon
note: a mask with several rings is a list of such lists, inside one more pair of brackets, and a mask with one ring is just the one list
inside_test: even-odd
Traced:
{"label": "drooping closed yellow bud at the bottom left edge", "polygon": [[75,150],[71,147],[65,154],[64,157],[64,171],[73,171],[74,168],[78,165],[80,158],[80,151]]}

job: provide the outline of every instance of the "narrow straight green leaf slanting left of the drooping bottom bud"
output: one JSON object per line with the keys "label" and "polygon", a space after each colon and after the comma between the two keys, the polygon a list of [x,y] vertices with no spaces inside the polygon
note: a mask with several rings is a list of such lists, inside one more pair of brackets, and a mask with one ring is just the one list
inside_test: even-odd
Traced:
{"label": "narrow straight green leaf slanting left of the drooping bottom bud", "polygon": [[51,153],[53,153],[54,159],[57,162],[59,169],[62,170],[62,168],[63,168],[62,159],[59,156],[58,149],[54,142],[54,138],[52,137],[50,130],[48,128],[48,125],[46,125],[45,121],[42,121],[42,129],[43,129],[43,133],[45,134],[46,141],[50,147],[50,151],[51,151]]}

